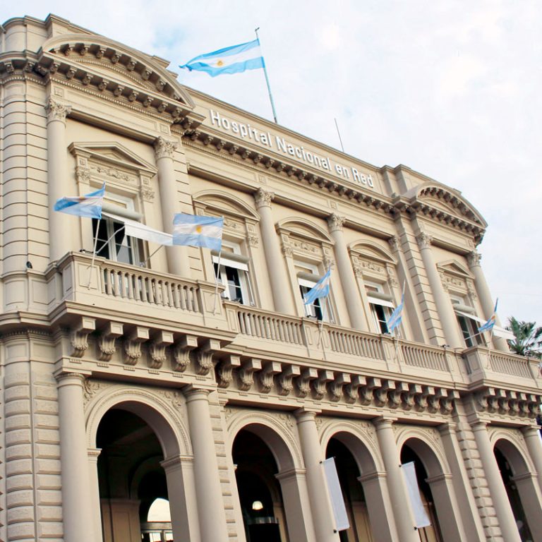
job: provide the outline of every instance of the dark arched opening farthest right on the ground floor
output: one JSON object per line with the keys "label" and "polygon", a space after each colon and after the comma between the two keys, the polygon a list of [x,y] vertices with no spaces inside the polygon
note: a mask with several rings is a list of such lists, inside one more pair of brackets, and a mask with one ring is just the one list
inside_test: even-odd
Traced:
{"label": "dark arched opening farthest right on the ground floor", "polygon": [[524,457],[510,440],[501,438],[493,449],[517,530],[523,542],[542,539],[540,490]]}

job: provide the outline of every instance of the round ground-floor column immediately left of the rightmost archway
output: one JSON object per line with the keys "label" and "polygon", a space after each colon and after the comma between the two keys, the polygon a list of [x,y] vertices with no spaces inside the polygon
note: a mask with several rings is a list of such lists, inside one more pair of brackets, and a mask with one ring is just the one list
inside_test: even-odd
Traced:
{"label": "round ground-floor column immediately left of the rightmost archway", "polygon": [[476,421],[471,424],[478,447],[478,453],[483,466],[483,471],[486,473],[488,488],[493,500],[493,507],[497,514],[497,519],[502,532],[502,538],[506,542],[520,542],[519,532],[517,530],[516,521],[510,501],[506,493],[505,484],[502,482],[497,459],[493,453],[493,446],[489,440],[487,423],[485,421]]}

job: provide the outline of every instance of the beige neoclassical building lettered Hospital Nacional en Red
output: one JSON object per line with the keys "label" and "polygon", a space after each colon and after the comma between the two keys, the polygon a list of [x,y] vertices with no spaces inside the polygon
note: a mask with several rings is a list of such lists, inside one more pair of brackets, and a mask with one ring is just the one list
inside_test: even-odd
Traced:
{"label": "beige neoclassical building lettered Hospital Nacional en Red", "polygon": [[[541,377],[476,334],[478,210],[168,65],[56,16],[1,28],[0,540],[542,541]],[[100,221],[52,211],[104,182]],[[177,212],[224,216],[222,253],[126,236]]]}

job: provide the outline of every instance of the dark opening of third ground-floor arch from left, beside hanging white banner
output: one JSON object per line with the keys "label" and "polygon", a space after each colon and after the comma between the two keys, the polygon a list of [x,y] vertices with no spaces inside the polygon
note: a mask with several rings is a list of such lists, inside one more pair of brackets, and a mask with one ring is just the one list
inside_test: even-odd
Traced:
{"label": "dark opening of third ground-floor arch from left, beside hanging white banner", "polygon": [[363,487],[359,483],[359,467],[350,450],[337,438],[327,443],[325,457],[334,457],[337,475],[347,509],[350,527],[339,531],[341,542],[372,542],[371,524]]}

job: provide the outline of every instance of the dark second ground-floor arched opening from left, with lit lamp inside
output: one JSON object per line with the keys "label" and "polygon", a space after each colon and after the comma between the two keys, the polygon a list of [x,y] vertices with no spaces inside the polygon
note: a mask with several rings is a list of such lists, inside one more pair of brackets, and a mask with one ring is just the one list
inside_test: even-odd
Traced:
{"label": "dark second ground-floor arched opening from left, with lit lamp inside", "polygon": [[249,430],[239,431],[232,457],[247,542],[287,542],[279,469],[270,448]]}

